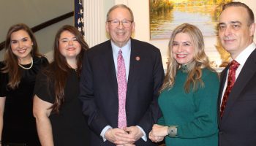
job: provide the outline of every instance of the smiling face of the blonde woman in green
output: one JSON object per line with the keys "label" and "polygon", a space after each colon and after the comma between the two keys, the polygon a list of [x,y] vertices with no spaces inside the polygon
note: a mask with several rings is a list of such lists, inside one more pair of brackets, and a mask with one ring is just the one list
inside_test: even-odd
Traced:
{"label": "smiling face of the blonde woman in green", "polygon": [[178,62],[178,64],[188,64],[193,61],[195,49],[189,34],[176,34],[171,48],[173,58]]}

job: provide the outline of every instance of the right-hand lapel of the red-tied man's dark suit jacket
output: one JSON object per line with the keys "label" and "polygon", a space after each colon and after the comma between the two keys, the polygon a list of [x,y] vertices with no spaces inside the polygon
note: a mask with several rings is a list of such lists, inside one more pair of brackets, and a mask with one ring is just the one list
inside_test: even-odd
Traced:
{"label": "right-hand lapel of the red-tied man's dark suit jacket", "polygon": [[227,118],[228,115],[230,114],[233,104],[239,98],[240,93],[244,90],[246,84],[249,82],[252,76],[256,73],[255,64],[256,64],[256,50],[254,50],[252,54],[249,55],[249,58],[246,60],[243,68],[241,69],[240,74],[238,75],[235,85],[233,86],[233,89],[230,92],[230,95],[227,100],[227,105],[225,107],[225,111],[222,117],[222,123],[225,122],[225,118]]}

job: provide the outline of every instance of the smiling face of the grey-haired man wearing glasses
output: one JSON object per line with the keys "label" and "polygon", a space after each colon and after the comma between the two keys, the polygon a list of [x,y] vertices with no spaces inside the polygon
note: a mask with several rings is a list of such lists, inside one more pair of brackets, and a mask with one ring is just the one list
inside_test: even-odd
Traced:
{"label": "smiling face of the grey-haired man wearing glasses", "polygon": [[118,26],[111,25],[110,21],[132,21],[132,16],[129,13],[128,9],[123,7],[117,7],[113,9],[112,12],[109,14],[109,20],[106,23],[106,31],[111,37],[111,40],[117,45],[118,47],[123,47],[127,44],[129,38],[132,36],[132,32],[135,29],[135,23],[132,22],[130,26],[124,27],[123,23],[120,23]]}

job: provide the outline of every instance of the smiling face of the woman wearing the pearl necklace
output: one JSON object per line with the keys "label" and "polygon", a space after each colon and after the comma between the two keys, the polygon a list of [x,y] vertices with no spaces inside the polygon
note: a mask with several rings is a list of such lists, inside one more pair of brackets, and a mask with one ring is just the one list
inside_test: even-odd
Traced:
{"label": "smiling face of the woman wearing the pearl necklace", "polygon": [[26,31],[13,32],[10,37],[10,45],[12,53],[17,56],[19,62],[30,61],[33,42]]}

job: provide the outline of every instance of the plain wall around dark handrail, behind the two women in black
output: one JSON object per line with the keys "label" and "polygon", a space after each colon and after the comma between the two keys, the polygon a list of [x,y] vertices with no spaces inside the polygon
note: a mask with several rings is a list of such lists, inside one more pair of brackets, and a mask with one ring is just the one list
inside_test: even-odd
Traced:
{"label": "plain wall around dark handrail, behind the two women in black", "polygon": [[[72,0],[1,0],[0,42],[4,41],[8,29],[15,23],[26,23],[29,27],[34,27],[67,12],[72,12],[73,9],[74,1]],[[56,31],[64,24],[74,25],[74,18],[62,20],[35,33],[40,53],[49,55],[50,58],[49,52],[53,48]],[[3,55],[4,50],[0,52],[0,61],[3,59]]]}

